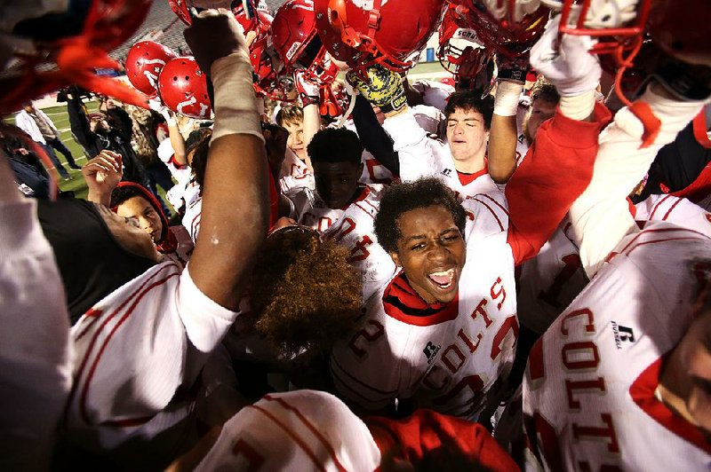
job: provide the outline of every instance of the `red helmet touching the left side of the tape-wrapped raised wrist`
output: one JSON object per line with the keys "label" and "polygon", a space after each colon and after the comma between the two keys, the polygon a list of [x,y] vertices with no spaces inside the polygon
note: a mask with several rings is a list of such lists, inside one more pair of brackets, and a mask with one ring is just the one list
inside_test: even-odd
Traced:
{"label": "red helmet touching the left side of the tape-wrapped raised wrist", "polygon": [[158,92],[165,106],[191,118],[208,119],[212,107],[207,79],[193,58],[168,61],[158,77]]}

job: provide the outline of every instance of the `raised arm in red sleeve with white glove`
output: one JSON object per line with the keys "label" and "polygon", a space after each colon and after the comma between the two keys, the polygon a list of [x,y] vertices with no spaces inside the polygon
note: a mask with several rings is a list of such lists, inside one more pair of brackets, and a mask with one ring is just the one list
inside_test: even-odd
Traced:
{"label": "raised arm in red sleeve with white glove", "polygon": [[593,177],[600,130],[610,112],[595,104],[602,69],[586,36],[563,35],[556,47],[558,20],[531,49],[531,66],[555,85],[561,102],[544,122],[506,188],[511,224],[508,242],[516,263],[536,256],[573,201]]}

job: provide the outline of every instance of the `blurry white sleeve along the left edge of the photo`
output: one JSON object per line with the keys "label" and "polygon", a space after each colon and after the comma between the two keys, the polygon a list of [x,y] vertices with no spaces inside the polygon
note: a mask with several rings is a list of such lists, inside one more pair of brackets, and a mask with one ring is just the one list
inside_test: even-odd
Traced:
{"label": "blurry white sleeve along the left edge of the photo", "polygon": [[36,201],[0,221],[0,469],[45,470],[70,386],[64,288]]}

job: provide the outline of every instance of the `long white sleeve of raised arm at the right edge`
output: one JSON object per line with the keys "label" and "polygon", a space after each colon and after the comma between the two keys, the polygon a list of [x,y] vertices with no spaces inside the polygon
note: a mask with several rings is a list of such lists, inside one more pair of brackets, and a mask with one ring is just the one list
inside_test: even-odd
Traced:
{"label": "long white sleeve of raised arm at the right edge", "polygon": [[619,110],[600,134],[593,179],[571,206],[572,235],[590,278],[619,240],[636,227],[627,195],[643,179],[659,149],[674,141],[703,106],[703,102],[662,98],[651,90],[641,100],[661,121],[654,143],[641,148],[642,123],[627,108]]}

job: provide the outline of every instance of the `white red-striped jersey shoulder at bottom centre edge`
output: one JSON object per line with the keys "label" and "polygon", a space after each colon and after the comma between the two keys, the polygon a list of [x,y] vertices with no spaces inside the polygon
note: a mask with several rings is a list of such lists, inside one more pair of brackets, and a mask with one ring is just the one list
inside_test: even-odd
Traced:
{"label": "white red-striped jersey shoulder at bottom centre edge", "polygon": [[196,470],[339,472],[379,465],[378,445],[348,406],[329,393],[297,390],[245,406],[225,423]]}

